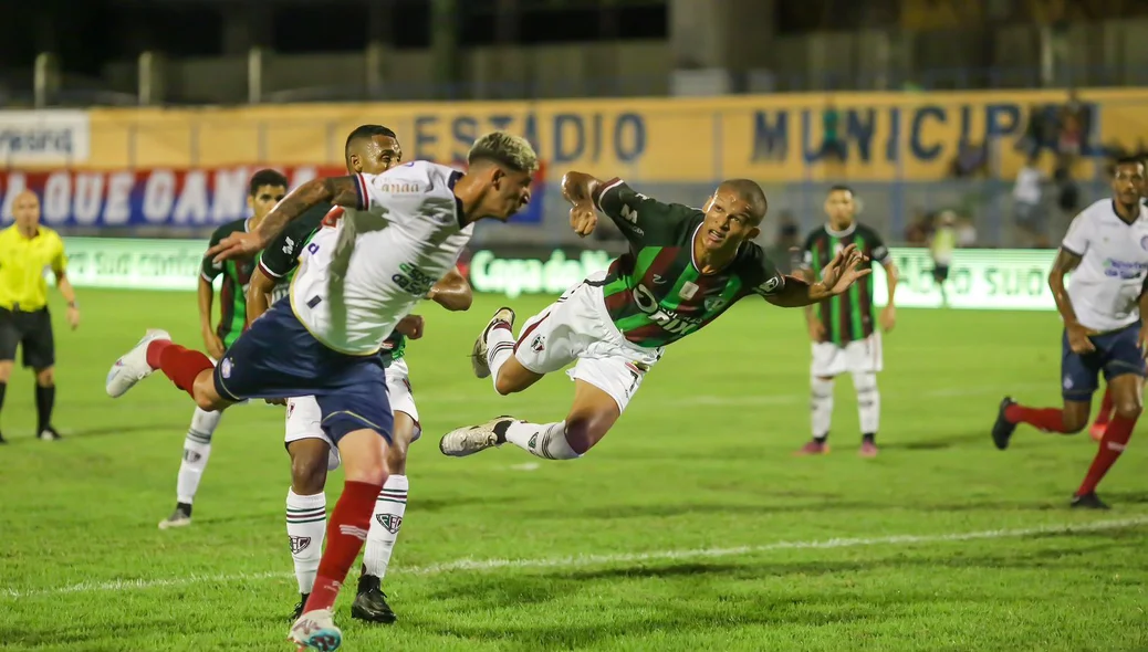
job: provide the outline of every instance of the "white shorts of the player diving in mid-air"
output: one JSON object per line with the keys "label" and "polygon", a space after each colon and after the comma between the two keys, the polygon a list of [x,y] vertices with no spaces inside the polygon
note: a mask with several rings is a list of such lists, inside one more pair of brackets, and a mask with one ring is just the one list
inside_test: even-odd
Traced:
{"label": "white shorts of the player diving in mid-air", "polygon": [[605,272],[591,274],[528,319],[514,343],[514,357],[542,374],[577,360],[566,374],[605,391],[625,412],[646,372],[661,358],[661,349],[642,348],[622,336],[606,312],[602,287],[591,285],[603,278]]}

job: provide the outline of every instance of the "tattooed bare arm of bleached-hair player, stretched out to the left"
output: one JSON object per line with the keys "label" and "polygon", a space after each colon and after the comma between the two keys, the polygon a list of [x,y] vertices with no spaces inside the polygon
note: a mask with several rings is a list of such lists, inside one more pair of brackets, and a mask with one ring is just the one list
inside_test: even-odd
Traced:
{"label": "tattooed bare arm of bleached-hair player, stretched out to the left", "polygon": [[297,219],[311,207],[320,203],[357,208],[359,204],[359,181],[356,177],[327,177],[301,184],[282,199],[263,218],[263,224],[253,233],[233,233],[208,249],[207,255],[216,262],[243,256],[254,256],[265,248],[293,219]]}

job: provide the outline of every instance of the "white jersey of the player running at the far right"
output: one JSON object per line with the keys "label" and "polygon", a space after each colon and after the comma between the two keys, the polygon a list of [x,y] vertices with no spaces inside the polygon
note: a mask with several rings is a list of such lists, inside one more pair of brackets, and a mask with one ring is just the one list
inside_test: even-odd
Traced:
{"label": "white jersey of the player running at the far right", "polygon": [[1061,248],[1080,256],[1069,279],[1077,319],[1094,331],[1116,331],[1140,319],[1140,293],[1148,273],[1148,207],[1131,224],[1116,214],[1112,200],[1080,211]]}

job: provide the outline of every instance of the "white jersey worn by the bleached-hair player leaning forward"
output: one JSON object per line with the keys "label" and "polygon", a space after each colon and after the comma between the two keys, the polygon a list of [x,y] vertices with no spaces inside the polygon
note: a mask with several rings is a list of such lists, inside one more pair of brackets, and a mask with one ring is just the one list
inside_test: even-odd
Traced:
{"label": "white jersey worn by the bleached-hair player leaning forward", "polygon": [[460,225],[460,177],[425,161],[356,176],[359,205],[315,235],[292,285],[292,309],[317,340],[347,354],[378,351],[455,267],[474,233]]}

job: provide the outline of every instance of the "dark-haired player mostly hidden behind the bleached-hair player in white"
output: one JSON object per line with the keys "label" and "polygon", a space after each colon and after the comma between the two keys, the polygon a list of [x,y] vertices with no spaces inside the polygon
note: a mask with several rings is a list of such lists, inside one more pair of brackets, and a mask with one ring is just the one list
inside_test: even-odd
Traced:
{"label": "dark-haired player mostly hidden behind the bleached-hair player in white", "polygon": [[[378,125],[364,125],[351,132],[344,152],[347,171],[351,174],[378,174],[402,161],[402,149],[394,132]],[[248,288],[249,319],[254,320],[266,311],[269,298],[273,303],[288,295],[300,257],[305,254],[320,224],[333,227],[343,212],[341,207],[333,208],[321,218],[318,217],[319,214],[309,212],[287,225],[263,250]],[[466,279],[457,271],[451,271],[430,288],[427,298],[447,310],[466,310],[471,306],[473,296]],[[359,620],[386,623],[395,621],[395,612],[387,604],[381,582],[390,564],[406,510],[410,487],[406,479],[406,449],[421,434],[404,357],[406,337],[418,339],[421,335],[422,318],[409,316],[382,343],[381,355],[387,368],[387,391],[395,425],[387,457],[390,475],[374,503],[374,514],[363,551],[363,573],[351,604],[351,616]],[[287,490],[287,536],[301,596],[295,606],[294,619],[302,615],[315,584],[327,521],[327,498],[324,494],[327,471],[339,465],[339,456],[332,453],[331,440],[324,434],[320,420],[319,404],[315,397],[287,399],[286,447],[292,465],[292,486]]]}

